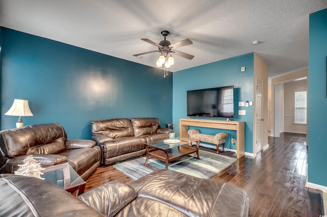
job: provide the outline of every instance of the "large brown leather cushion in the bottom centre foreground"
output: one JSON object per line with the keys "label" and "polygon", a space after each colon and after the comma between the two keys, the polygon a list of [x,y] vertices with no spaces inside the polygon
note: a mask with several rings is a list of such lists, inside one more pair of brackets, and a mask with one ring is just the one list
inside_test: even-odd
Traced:
{"label": "large brown leather cushion in the bottom centre foreground", "polygon": [[249,211],[241,188],[175,171],[158,170],[129,185],[137,198],[151,198],[189,216],[247,216]]}

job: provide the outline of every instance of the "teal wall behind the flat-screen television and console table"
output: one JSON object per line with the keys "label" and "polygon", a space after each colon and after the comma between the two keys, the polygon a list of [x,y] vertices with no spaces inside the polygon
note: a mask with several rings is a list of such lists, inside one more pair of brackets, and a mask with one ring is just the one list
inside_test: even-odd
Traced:
{"label": "teal wall behind the flat-screen television and console table", "polygon": [[[234,86],[235,121],[245,121],[245,151],[253,153],[253,106],[240,107],[245,110],[245,116],[239,116],[239,101],[253,101],[253,53],[229,58],[226,60],[201,65],[173,73],[173,124],[174,130],[179,133],[179,119],[186,116],[186,91],[223,86]],[[241,72],[245,66],[246,71]],[[225,120],[225,119],[216,119]],[[230,138],[236,138],[236,131],[200,128],[200,132],[216,134],[218,132],[230,133]],[[228,148],[236,149],[236,145]]]}

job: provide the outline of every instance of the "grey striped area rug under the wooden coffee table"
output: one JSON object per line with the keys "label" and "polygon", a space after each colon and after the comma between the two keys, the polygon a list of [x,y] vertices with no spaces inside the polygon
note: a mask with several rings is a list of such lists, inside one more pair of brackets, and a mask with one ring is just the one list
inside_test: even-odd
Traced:
{"label": "grey striped area rug under the wooden coffee table", "polygon": [[[201,159],[194,157],[180,162],[179,164],[176,164],[174,166],[168,167],[168,170],[189,174],[199,178],[209,179],[237,160],[237,158],[234,157],[223,156],[220,154],[202,150],[199,151]],[[146,157],[140,157],[126,162],[122,162],[120,164],[116,164],[113,167],[121,171],[125,175],[129,176],[133,180],[137,180],[154,171],[148,167],[143,166],[145,160]],[[170,163],[173,162],[174,161],[171,161]],[[158,170],[165,169],[165,162],[162,162],[152,157],[149,158],[148,165]]]}

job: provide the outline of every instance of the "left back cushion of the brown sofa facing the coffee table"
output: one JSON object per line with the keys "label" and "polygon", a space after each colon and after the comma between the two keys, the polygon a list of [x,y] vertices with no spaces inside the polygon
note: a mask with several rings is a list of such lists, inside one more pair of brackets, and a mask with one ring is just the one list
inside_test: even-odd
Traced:
{"label": "left back cushion of the brown sofa facing the coffee table", "polygon": [[92,121],[91,133],[103,134],[112,139],[134,136],[133,126],[127,118]]}

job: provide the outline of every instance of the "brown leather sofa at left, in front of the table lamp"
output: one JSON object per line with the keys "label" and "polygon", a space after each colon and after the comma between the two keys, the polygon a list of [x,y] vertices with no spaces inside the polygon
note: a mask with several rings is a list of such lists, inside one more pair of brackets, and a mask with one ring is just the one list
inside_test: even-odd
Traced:
{"label": "brown leather sofa at left, in front of the table lamp", "polygon": [[100,165],[101,150],[92,140],[67,140],[59,123],[35,124],[0,131],[0,173],[14,173],[26,156],[49,167],[63,162],[85,180]]}

